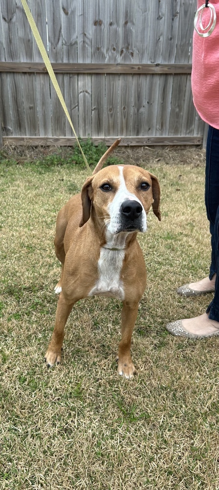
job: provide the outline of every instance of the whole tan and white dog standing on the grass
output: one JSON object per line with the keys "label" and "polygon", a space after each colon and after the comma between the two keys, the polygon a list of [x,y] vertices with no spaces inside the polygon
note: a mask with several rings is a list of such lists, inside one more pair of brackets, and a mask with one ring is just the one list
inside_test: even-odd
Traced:
{"label": "whole tan and white dog standing on the grass", "polygon": [[103,155],[81,194],[73,196],[57,217],[55,251],[62,263],[55,328],[45,354],[48,366],[61,361],[64,328],[79,299],[101,295],[123,302],[118,372],[131,378],[131,336],[138,303],[146,287],[146,268],[137,232],[147,230],[150,207],[160,220],[160,187],[150,172],[132,165],[101,167],[117,140]]}

